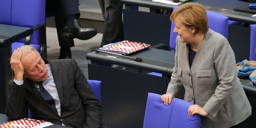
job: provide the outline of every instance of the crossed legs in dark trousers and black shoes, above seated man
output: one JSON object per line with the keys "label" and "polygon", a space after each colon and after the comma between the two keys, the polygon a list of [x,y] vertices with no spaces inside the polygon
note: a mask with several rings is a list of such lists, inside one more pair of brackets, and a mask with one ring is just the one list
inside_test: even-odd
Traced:
{"label": "crossed legs in dark trousers and black shoes, above seated man", "polygon": [[61,47],[59,59],[72,58],[70,47],[75,46],[74,38],[87,40],[97,34],[93,28],[81,27],[78,20],[78,0],[46,0],[46,11],[55,12],[55,25]]}

